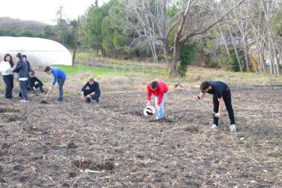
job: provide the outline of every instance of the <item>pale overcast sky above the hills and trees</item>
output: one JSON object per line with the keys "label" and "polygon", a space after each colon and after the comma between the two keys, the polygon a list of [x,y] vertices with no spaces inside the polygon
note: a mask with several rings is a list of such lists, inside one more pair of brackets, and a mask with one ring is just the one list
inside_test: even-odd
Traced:
{"label": "pale overcast sky above the hills and trees", "polygon": [[[98,0],[98,6],[102,6],[109,0]],[[0,17],[12,17],[22,20],[42,21],[46,24],[54,24],[56,12],[60,5],[63,6],[63,15],[70,19],[77,19],[95,0],[3,0],[0,3]]]}

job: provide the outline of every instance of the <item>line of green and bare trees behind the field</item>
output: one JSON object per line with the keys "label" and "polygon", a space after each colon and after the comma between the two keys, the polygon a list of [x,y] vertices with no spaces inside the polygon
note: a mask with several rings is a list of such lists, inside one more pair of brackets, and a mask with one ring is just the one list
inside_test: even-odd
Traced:
{"label": "line of green and bare trees behind the field", "polygon": [[[110,0],[86,8],[79,20],[80,49],[112,58],[150,58],[169,74],[187,65],[281,75],[282,0]],[[57,12],[42,37],[72,47],[77,20]],[[56,29],[55,29],[56,28]],[[26,33],[26,31],[25,31]]]}

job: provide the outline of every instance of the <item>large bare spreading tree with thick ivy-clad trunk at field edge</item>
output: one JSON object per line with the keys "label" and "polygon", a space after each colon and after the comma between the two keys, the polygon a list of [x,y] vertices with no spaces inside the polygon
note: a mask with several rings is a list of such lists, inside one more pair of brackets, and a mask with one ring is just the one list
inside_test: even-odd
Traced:
{"label": "large bare spreading tree with thick ivy-clad trunk at field edge", "polygon": [[[132,12],[132,10],[134,10],[135,14],[143,15],[142,17],[146,17],[151,23],[155,23],[155,26],[157,26],[157,30],[154,31],[157,33],[155,40],[162,41],[162,49],[169,68],[169,73],[174,77],[178,77],[180,75],[178,62],[180,61],[182,46],[187,45],[190,38],[205,33],[212,28],[212,26],[221,22],[226,15],[244,2],[244,0],[241,0],[235,6],[228,8],[226,12],[221,13],[221,9],[224,5],[227,5],[226,1],[227,0],[123,0],[121,3],[123,3],[124,12]],[[152,2],[155,2],[154,8],[152,8]],[[171,10],[172,5],[175,5],[176,2],[178,3],[175,8],[175,14],[169,15],[167,11]],[[218,17],[215,20],[214,15]],[[188,17],[191,17],[191,19],[188,19]],[[137,24],[143,22],[143,20],[139,18],[141,17],[136,17],[132,28],[136,28]],[[132,25],[132,22],[130,22],[130,24],[128,23],[129,19],[125,20],[127,21],[127,25]],[[175,32],[173,47],[169,45],[171,32]],[[143,33],[144,34],[141,36],[150,38],[150,36],[146,36],[145,31],[143,31]],[[172,58],[169,58],[170,56],[172,56]]]}

